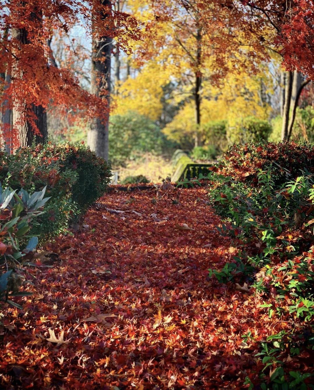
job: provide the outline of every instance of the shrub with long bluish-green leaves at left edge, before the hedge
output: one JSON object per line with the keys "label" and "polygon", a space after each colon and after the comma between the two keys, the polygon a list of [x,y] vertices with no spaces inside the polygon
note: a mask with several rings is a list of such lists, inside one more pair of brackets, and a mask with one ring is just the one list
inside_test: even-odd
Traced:
{"label": "shrub with long bluish-green leaves at left edge, before the hedge", "polygon": [[22,277],[18,271],[21,271],[23,258],[34,251],[38,243],[38,238],[30,235],[30,229],[43,214],[42,209],[49,199],[44,199],[45,190],[29,195],[23,189],[18,193],[11,188],[2,190],[0,185],[0,300],[18,308],[20,305],[9,298],[29,295],[19,292]]}

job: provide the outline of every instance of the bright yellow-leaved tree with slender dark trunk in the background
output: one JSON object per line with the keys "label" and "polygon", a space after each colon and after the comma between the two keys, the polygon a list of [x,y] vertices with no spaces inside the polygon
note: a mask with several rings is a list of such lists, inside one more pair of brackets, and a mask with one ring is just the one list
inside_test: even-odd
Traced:
{"label": "bright yellow-leaved tree with slender dark trunk in the background", "polygon": [[164,133],[192,147],[192,139],[194,145],[206,142],[202,127],[209,121],[224,119],[232,127],[247,115],[267,119],[270,107],[262,99],[261,85],[263,82],[270,88],[271,78],[265,72],[256,74],[255,65],[261,63],[258,54],[252,64],[250,55],[246,57],[247,49],[239,49],[239,42],[246,39],[241,32],[228,37],[234,40],[234,53],[230,55],[229,50],[227,57],[220,50],[217,56],[215,47],[221,46],[222,37],[226,39],[227,34],[223,25],[217,22],[209,29],[206,23],[211,10],[207,19],[200,18],[204,13],[204,9],[198,8],[200,2],[190,0],[192,8],[185,7],[186,3],[162,0],[161,14],[156,7],[148,7],[147,0],[128,1],[133,15],[143,26],[143,41],[134,43],[137,55],[133,57],[133,64],[138,64],[140,71],[136,78],[129,77],[121,84],[119,96],[114,98],[114,113],[133,110],[158,119],[163,87],[174,82],[177,89],[169,102],[180,105],[181,109]]}

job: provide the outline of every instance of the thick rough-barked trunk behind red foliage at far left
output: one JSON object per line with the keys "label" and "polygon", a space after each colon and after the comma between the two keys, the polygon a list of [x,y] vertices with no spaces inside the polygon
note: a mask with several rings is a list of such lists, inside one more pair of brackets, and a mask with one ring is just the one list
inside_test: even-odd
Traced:
{"label": "thick rough-barked trunk behind red foliage at far left", "polygon": [[[41,20],[41,13],[32,12],[30,15],[31,20]],[[12,39],[16,39],[19,42],[19,50],[23,49],[23,45],[30,44],[30,40],[27,36],[27,31],[25,28],[13,28],[12,29]],[[19,51],[18,50],[18,51]],[[17,51],[17,58],[18,58]],[[14,80],[19,80],[23,78],[23,70],[18,67],[18,59],[14,58],[15,66],[12,66],[12,83],[14,88]],[[30,122],[27,120],[30,113],[25,113],[26,106],[23,101],[20,101],[18,97],[13,100],[12,104],[12,128],[14,131],[18,132],[19,144],[21,147],[31,146],[33,140],[35,140],[36,144],[43,143],[46,141],[48,137],[47,133],[47,116],[44,108],[42,106],[35,106],[29,109],[31,110],[37,120],[35,121],[36,126],[38,127],[41,137],[38,135],[34,135],[34,131]],[[25,115],[26,114],[26,115]],[[26,120],[25,120],[26,118]]]}

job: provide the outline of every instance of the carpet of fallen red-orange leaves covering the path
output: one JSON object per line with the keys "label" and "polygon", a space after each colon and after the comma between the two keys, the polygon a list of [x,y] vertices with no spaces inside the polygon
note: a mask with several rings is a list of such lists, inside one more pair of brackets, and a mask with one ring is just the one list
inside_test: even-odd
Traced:
{"label": "carpet of fallen red-orange leaves covering the path", "polygon": [[1,388],[248,387],[263,365],[241,335],[280,328],[246,286],[208,278],[241,247],[215,229],[208,189],[164,195],[113,191],[46,244],[34,295],[2,308]]}

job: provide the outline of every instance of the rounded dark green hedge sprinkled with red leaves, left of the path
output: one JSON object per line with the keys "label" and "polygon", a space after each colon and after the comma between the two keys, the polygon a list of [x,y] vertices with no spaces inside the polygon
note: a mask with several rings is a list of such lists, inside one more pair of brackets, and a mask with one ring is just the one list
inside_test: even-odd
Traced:
{"label": "rounded dark green hedge sprinkled with red leaves, left of the path", "polygon": [[78,218],[98,199],[110,180],[105,161],[84,145],[37,145],[19,149],[14,155],[0,154],[0,180],[14,190],[42,190],[52,201],[32,227],[39,241],[67,230],[69,220]]}

